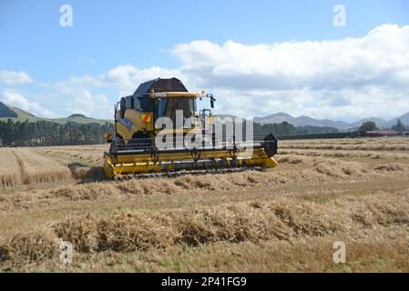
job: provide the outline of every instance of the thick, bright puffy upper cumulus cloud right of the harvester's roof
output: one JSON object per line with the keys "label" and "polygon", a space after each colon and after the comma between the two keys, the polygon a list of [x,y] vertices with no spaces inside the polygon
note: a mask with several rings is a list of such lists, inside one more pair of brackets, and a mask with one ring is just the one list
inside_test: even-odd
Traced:
{"label": "thick, bright puffy upper cumulus cloud right of the harvester's roof", "polygon": [[182,70],[204,84],[235,89],[345,89],[406,85],[409,26],[382,25],[361,38],[223,45],[193,41],[173,49]]}

